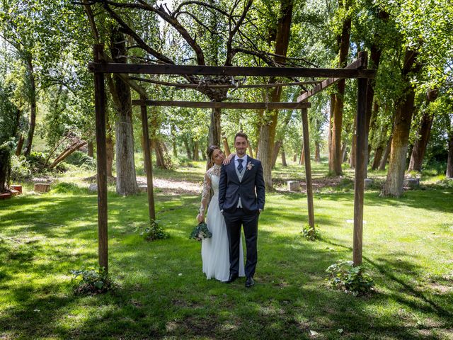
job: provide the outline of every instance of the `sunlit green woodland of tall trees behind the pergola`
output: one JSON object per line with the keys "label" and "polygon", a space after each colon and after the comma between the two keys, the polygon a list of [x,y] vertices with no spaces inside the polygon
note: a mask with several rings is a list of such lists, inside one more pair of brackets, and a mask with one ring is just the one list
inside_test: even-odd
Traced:
{"label": "sunlit green woodland of tall trees behind the pergola", "polygon": [[[368,159],[370,169],[387,169],[382,193],[401,196],[406,170],[428,166],[453,176],[453,8],[447,1],[2,1],[0,18],[1,191],[11,176],[63,171],[71,154],[70,162],[91,162],[84,154],[93,157],[96,149],[87,67],[93,43],[103,43],[105,60],[115,62],[260,67],[345,67],[366,50],[369,67],[377,69],[367,96]],[[294,101],[310,87],[242,87],[284,81],[263,77],[160,76],[140,85],[133,78],[107,80],[108,173],[116,174],[122,195],[137,192],[134,150],[144,145],[131,100],[139,93],[162,100]],[[331,176],[343,173],[343,162],[355,165],[356,86],[339,81],[311,98],[311,149],[316,162],[328,154]],[[301,125],[291,110],[151,108],[149,119],[162,168],[178,166],[181,156],[204,159],[211,144],[228,153],[243,130],[269,189],[279,155],[282,164],[302,161]]]}

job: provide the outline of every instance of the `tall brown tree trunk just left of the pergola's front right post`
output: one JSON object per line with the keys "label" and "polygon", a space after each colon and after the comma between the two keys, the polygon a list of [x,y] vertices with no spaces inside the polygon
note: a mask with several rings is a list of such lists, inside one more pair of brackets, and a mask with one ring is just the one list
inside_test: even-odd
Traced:
{"label": "tall brown tree trunk just left of the pergola's front right post", "polygon": [[[340,1],[340,7],[344,6],[344,10],[348,12],[349,2]],[[340,50],[338,58],[338,67],[343,68],[346,66],[348,59],[349,41],[350,41],[351,17],[346,16],[343,21],[341,34],[337,37],[338,47]],[[336,84],[336,92],[333,94],[333,126],[332,126],[332,164],[329,168],[336,176],[343,174],[341,169],[341,130],[343,125],[343,106],[345,96],[345,79],[341,79]]]}

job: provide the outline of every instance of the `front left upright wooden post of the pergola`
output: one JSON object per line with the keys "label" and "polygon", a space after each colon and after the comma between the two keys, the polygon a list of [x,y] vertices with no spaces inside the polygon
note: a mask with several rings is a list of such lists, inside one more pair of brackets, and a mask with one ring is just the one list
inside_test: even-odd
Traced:
{"label": "front left upright wooden post of the pergola", "polygon": [[[93,45],[95,62],[102,62],[103,45]],[[99,266],[108,271],[107,232],[107,148],[105,144],[104,74],[94,73],[94,105],[96,111],[96,156],[98,164],[98,252]]]}

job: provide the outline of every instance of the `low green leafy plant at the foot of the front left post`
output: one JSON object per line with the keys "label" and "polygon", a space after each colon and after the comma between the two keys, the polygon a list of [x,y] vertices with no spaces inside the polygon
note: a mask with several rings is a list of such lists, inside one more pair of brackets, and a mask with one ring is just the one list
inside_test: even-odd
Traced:
{"label": "low green leafy plant at the foot of the front left post", "polygon": [[96,295],[107,293],[116,288],[104,267],[99,267],[98,271],[94,268],[88,268],[70,272],[73,276],[71,281],[76,282],[74,286],[74,293],[76,294]]}

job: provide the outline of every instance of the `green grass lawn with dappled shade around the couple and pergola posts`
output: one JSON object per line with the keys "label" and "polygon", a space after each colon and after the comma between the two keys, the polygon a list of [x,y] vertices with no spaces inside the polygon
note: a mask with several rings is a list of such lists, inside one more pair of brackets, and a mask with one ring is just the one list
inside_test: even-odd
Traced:
{"label": "green grass lawn with dappled shade around the couple and pergola posts", "polygon": [[[299,169],[277,167],[277,182],[303,179]],[[198,183],[202,171],[200,162],[156,177]],[[315,177],[325,172],[314,166]],[[74,295],[69,271],[96,266],[96,193],[75,187],[0,201],[0,339],[453,339],[452,186],[400,199],[366,192],[369,297],[325,280],[329,265],[352,257],[350,183],[316,192],[318,242],[300,234],[304,194],[268,193],[251,289],[244,279],[206,280],[200,244],[188,239],[199,201],[158,190],[158,220],[171,237],[145,242],[136,229],[147,220],[146,194],[110,188],[109,263],[119,288],[95,296]]]}

